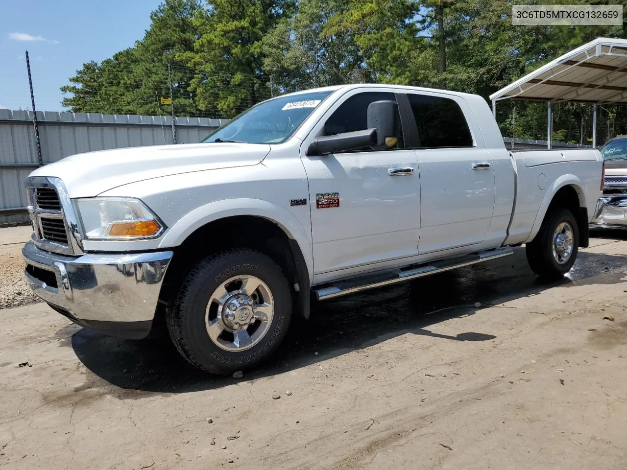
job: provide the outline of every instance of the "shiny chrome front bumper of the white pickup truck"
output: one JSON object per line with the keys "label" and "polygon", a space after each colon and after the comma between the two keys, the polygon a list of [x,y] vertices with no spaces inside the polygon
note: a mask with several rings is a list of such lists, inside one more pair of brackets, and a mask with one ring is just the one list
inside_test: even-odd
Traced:
{"label": "shiny chrome front bumper of the white pickup truck", "polygon": [[150,332],[172,259],[172,251],[65,256],[33,242],[22,255],[34,293],[56,311],[91,330],[126,338]]}

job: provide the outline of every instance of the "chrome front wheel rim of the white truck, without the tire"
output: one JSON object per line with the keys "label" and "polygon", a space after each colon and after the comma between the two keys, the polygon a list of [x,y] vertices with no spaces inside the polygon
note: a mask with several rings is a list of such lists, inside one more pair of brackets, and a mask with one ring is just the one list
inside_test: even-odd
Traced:
{"label": "chrome front wheel rim of the white truck, without the tire", "polygon": [[272,323],[274,301],[255,276],[234,276],[211,295],[205,312],[209,338],[227,351],[243,351],[260,342]]}

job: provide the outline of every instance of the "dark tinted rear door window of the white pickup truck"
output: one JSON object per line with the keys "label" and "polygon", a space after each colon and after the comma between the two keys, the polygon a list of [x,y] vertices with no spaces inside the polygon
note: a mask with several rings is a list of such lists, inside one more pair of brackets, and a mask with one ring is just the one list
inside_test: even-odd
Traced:
{"label": "dark tinted rear door window of the white pickup truck", "polygon": [[460,105],[450,98],[407,95],[418,126],[420,147],[472,147],[472,135]]}

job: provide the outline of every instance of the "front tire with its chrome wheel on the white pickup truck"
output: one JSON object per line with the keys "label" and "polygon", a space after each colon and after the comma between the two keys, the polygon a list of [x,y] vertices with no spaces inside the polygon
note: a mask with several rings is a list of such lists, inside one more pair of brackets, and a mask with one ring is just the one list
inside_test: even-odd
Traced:
{"label": "front tire with its chrome wheel on the white pickup truck", "polygon": [[215,374],[265,361],[285,337],[291,317],[292,295],[283,271],[265,254],[246,248],[198,263],[166,313],[170,337],[181,355]]}

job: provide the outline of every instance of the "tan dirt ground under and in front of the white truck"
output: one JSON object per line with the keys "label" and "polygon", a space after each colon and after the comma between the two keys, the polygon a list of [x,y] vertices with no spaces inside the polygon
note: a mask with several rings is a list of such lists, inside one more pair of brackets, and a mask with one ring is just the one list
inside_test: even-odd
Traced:
{"label": "tan dirt ground under and in front of the white truck", "polygon": [[600,234],[553,285],[519,249],[321,303],[240,380],[2,310],[0,466],[624,470],[626,240]]}

